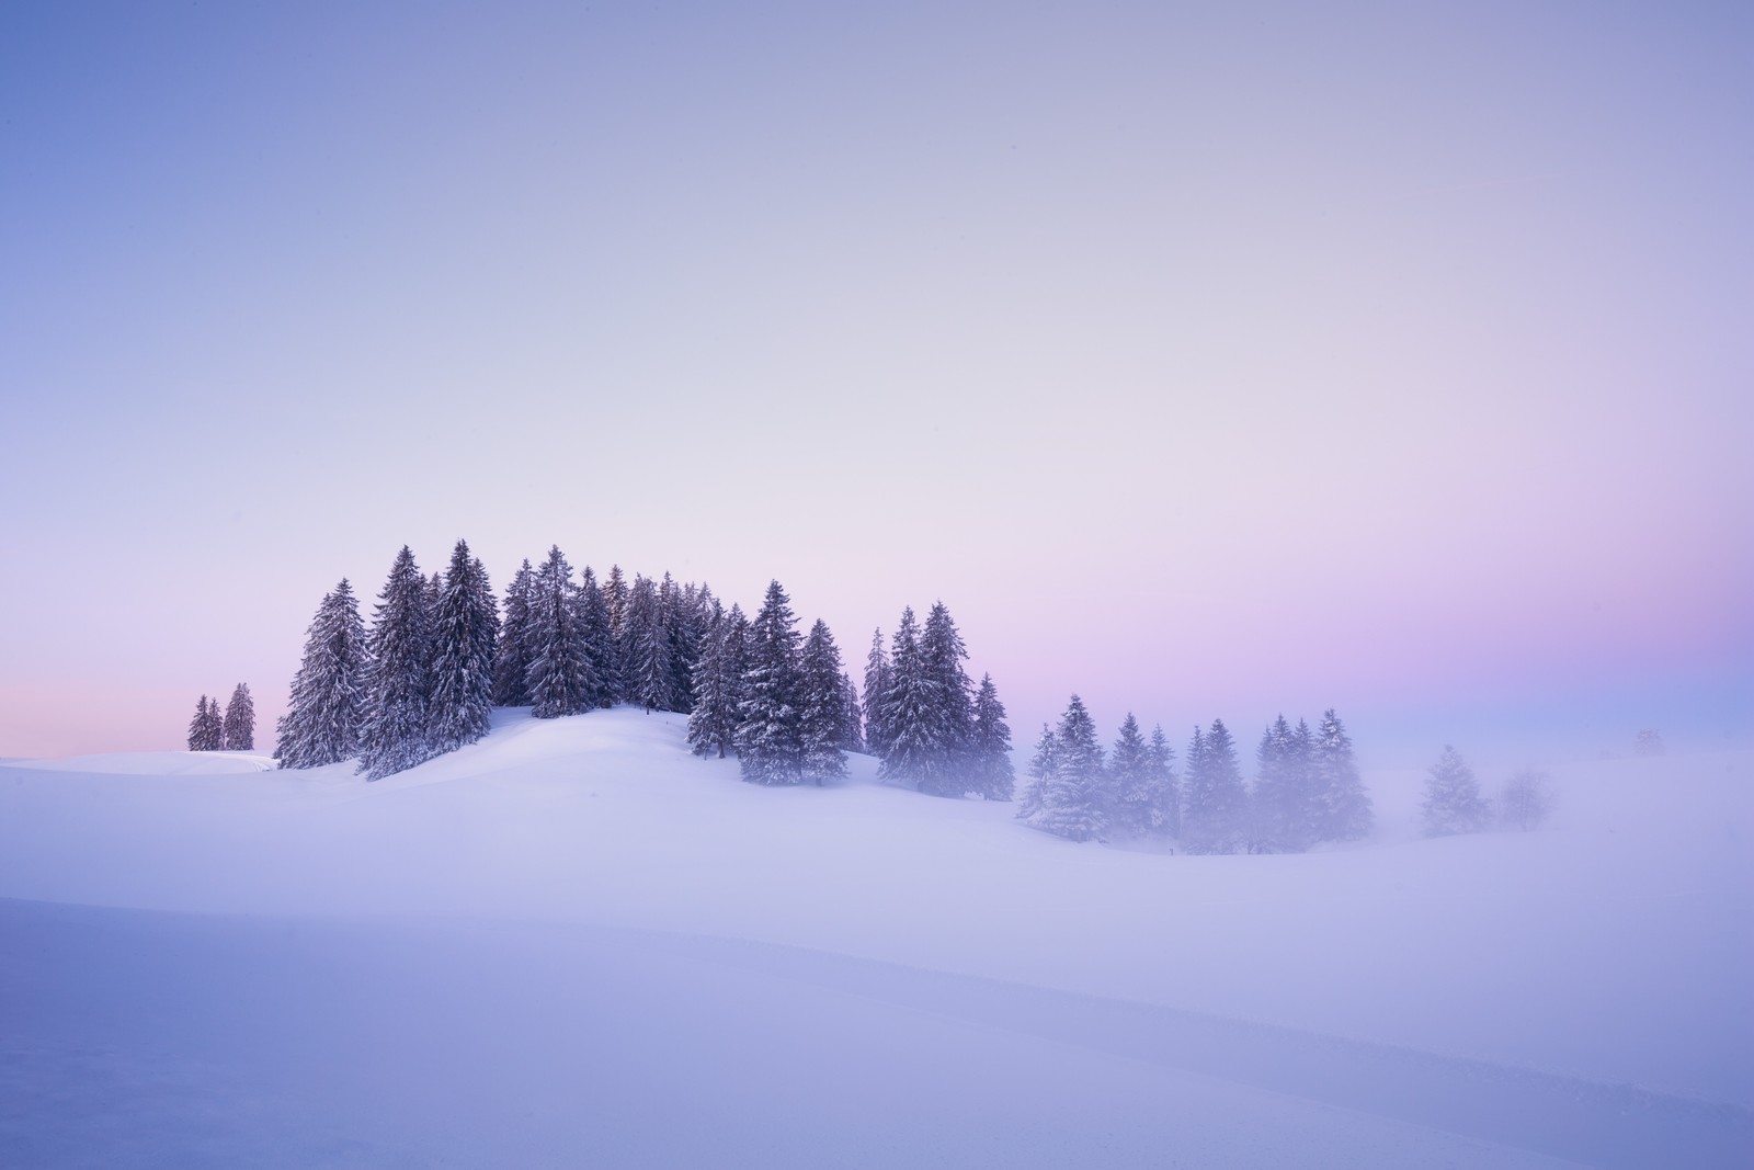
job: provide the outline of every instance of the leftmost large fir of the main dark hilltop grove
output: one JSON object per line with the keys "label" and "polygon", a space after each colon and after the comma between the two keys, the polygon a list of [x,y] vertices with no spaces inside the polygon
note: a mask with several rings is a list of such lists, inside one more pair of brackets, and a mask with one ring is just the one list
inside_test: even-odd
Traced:
{"label": "leftmost large fir of the main dark hilltop grove", "polygon": [[275,724],[274,758],[282,768],[321,768],[360,754],[368,665],[360,603],[342,579],[310,621],[291,700]]}

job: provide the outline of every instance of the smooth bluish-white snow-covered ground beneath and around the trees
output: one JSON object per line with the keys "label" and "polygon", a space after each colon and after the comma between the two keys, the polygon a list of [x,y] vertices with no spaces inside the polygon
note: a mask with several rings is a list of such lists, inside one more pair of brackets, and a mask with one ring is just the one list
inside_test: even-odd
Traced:
{"label": "smooth bluish-white snow-covered ground beneath and around the trees", "polygon": [[0,765],[0,1165],[1754,1159],[1754,756],[1431,842],[1368,775],[1368,842],[1191,858],[682,728]]}

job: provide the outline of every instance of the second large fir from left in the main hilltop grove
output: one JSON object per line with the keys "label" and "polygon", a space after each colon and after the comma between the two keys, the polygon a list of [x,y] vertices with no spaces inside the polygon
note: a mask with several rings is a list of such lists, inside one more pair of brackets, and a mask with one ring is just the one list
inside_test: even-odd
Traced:
{"label": "second large fir from left in the main hilltop grove", "polygon": [[431,628],[428,582],[402,546],[379,593],[367,640],[365,721],[360,726],[360,772],[377,781],[431,758],[426,700],[431,689]]}

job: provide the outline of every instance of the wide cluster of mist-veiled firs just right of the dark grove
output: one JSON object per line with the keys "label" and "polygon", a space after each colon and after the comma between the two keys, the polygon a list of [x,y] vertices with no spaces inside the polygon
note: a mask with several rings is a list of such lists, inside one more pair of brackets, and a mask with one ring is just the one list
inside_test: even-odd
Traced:
{"label": "wide cluster of mist-veiled firs just right of the dark grove", "polygon": [[1223,719],[1194,728],[1177,774],[1163,728],[1147,740],[1131,712],[1105,758],[1073,695],[1059,726],[1042,726],[1030,775],[1017,816],[1072,840],[1161,837],[1187,853],[1300,853],[1358,840],[1372,821],[1352,740],[1331,709],[1316,731],[1301,719],[1296,728],[1273,721],[1249,784]]}

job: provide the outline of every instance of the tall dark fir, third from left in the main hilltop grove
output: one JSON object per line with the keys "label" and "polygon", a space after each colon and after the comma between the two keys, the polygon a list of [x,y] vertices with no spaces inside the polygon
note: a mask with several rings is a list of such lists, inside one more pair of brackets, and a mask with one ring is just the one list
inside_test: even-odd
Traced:
{"label": "tall dark fir, third from left in the main hilltop grove", "polygon": [[435,756],[488,733],[496,628],[486,570],[468,554],[468,544],[458,540],[433,607],[426,735]]}

